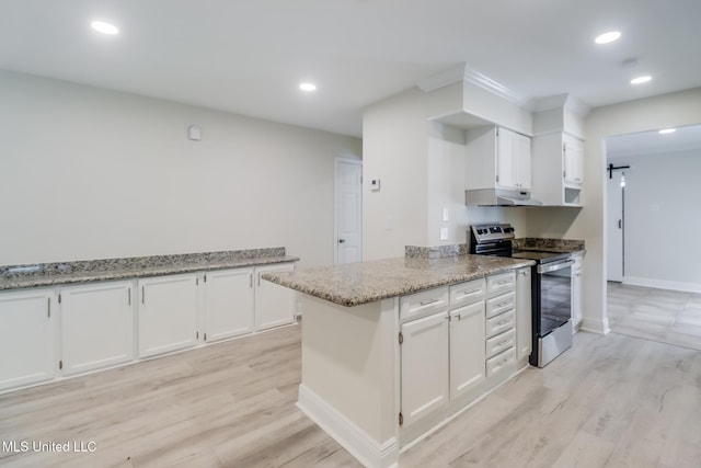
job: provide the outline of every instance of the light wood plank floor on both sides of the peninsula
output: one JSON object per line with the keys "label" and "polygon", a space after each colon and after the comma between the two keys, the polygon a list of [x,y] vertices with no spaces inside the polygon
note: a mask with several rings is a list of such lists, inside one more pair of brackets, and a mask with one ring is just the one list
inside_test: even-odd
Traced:
{"label": "light wood plank floor on both sides of the peninsula", "polygon": [[[18,467],[358,467],[296,407],[300,328],[0,396],[2,441],[94,441],[89,454],[0,452]],[[428,440],[402,467],[701,466],[701,352],[577,333]]]}

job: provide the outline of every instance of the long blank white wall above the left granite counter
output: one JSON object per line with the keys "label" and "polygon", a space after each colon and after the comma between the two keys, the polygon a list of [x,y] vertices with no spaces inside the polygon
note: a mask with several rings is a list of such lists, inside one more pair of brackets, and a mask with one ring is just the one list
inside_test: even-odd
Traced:
{"label": "long blank white wall above the left granite counter", "polygon": [[0,264],[265,247],[333,262],[333,161],[357,138],[1,70],[0,102]]}

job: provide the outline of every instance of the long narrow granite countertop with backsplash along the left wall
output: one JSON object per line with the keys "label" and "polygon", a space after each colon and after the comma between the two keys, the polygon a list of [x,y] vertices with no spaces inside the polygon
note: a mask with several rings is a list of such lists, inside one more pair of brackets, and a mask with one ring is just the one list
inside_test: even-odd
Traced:
{"label": "long narrow granite countertop with backsplash along the left wall", "polygon": [[0,290],[297,262],[285,248],[0,266]]}

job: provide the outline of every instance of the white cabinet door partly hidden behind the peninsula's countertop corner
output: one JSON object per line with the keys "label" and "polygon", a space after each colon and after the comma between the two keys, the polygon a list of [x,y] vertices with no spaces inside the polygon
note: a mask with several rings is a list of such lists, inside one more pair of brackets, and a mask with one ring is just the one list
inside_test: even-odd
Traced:
{"label": "white cabinet door partly hidden behind the peninsula's countertop corner", "polygon": [[264,273],[291,272],[294,263],[255,269],[255,329],[264,330],[295,321],[295,292],[261,278]]}

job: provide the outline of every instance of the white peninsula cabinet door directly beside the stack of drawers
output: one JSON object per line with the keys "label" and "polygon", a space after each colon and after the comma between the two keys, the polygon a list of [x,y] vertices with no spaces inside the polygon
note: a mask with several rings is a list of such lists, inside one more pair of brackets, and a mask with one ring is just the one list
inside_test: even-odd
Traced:
{"label": "white peninsula cabinet door directly beside the stack of drawers", "polygon": [[484,380],[484,301],[450,312],[450,399]]}

